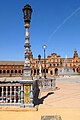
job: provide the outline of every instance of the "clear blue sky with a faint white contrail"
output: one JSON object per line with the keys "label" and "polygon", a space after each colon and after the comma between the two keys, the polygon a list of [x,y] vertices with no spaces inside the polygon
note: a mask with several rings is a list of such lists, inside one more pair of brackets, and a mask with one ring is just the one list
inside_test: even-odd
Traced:
{"label": "clear blue sky with a faint white contrail", "polygon": [[80,56],[80,0],[0,1],[0,60],[24,60],[25,28],[22,8],[29,3],[33,13],[30,43],[33,56],[55,52],[61,57]]}

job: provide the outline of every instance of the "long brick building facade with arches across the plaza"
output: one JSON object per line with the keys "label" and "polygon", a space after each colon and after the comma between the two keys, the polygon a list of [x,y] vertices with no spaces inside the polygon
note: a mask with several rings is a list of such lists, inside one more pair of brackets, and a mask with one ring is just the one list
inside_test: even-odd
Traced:
{"label": "long brick building facade with arches across the plaza", "polygon": [[[39,60],[30,55],[31,74],[39,75]],[[42,76],[44,75],[44,58],[40,60]],[[80,58],[76,50],[72,58],[61,58],[56,53],[52,53],[46,58],[46,76],[59,75],[59,71],[68,66],[74,72],[80,73]],[[24,61],[0,61],[0,77],[20,77],[23,74]]]}

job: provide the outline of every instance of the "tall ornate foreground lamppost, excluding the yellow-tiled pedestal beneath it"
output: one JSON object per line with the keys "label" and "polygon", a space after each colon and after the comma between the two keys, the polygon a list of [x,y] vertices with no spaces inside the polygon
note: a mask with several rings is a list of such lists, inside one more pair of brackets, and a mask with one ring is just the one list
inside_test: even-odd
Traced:
{"label": "tall ornate foreground lamppost, excluding the yellow-tiled pedestal beneath it", "polygon": [[30,28],[30,21],[31,21],[31,14],[32,14],[32,8],[29,4],[25,5],[23,8],[23,14],[24,14],[24,27],[26,29],[26,37],[25,37],[25,63],[24,63],[24,69],[23,69],[23,79],[30,80],[31,77],[31,68],[30,68],[30,35],[29,35],[29,28]]}

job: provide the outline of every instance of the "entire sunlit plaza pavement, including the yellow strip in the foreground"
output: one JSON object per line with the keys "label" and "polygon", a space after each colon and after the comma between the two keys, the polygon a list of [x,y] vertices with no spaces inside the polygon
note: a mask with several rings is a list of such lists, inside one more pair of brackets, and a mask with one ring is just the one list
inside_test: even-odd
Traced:
{"label": "entire sunlit plaza pavement, including the yellow strip in the foreground", "polygon": [[60,115],[62,120],[80,120],[80,76],[59,77],[54,91],[41,91],[38,111],[0,111],[0,120],[41,120]]}

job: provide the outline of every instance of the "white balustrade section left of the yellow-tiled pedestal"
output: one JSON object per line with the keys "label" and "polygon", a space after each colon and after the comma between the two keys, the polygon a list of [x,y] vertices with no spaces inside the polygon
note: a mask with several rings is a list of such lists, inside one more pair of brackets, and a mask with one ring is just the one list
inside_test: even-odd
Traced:
{"label": "white balustrade section left of the yellow-tiled pedestal", "polygon": [[1,84],[0,83],[0,104],[21,103],[21,85],[20,84]]}

